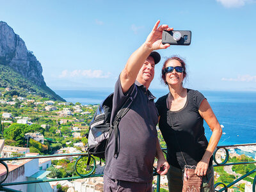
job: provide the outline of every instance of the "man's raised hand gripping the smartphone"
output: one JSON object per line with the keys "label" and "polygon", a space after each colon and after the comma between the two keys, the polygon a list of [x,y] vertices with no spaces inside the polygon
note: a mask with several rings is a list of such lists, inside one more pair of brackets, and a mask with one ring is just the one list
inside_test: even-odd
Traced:
{"label": "man's raised hand gripping the smartphone", "polygon": [[152,29],[151,33],[148,35],[145,45],[147,45],[150,49],[157,50],[157,49],[166,49],[170,47],[170,44],[162,44],[162,33],[163,30],[171,31],[173,28],[169,28],[168,25],[163,24],[158,27],[160,20],[157,20],[154,28]]}

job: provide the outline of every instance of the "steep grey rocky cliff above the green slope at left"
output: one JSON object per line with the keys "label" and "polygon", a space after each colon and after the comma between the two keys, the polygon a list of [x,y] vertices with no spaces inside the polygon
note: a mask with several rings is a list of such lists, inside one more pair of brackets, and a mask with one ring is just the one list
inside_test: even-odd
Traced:
{"label": "steep grey rocky cliff above the green slope at left", "polygon": [[0,65],[12,68],[46,92],[51,92],[54,99],[63,100],[46,86],[42,66],[33,52],[28,51],[25,42],[3,21],[0,21]]}

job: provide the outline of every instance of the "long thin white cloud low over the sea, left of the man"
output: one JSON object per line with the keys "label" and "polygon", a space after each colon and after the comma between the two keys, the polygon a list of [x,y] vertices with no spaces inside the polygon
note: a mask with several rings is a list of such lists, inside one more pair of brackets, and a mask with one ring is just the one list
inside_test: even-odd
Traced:
{"label": "long thin white cloud low over the sea, left of the man", "polygon": [[81,70],[81,69],[76,69],[73,71],[68,71],[68,70],[63,70],[60,74],[60,78],[67,78],[67,77],[84,77],[84,78],[97,78],[97,79],[102,79],[102,78],[109,78],[111,76],[110,72],[104,73],[102,70]]}

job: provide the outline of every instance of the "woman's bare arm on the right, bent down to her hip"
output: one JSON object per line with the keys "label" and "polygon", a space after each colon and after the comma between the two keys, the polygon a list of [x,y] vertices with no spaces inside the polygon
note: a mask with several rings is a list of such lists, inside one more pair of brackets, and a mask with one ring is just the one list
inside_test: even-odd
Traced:
{"label": "woman's bare arm on the right, bent down to her hip", "polygon": [[209,125],[212,135],[209,141],[209,145],[205,150],[205,154],[202,157],[201,161],[198,162],[196,165],[195,173],[198,176],[206,175],[207,168],[209,166],[209,160],[215,150],[215,148],[218,145],[218,142],[220,141],[222,129],[220,127],[220,124],[214,115],[211,106],[209,105],[209,102],[204,99],[200,105],[199,113],[204,118],[205,122]]}

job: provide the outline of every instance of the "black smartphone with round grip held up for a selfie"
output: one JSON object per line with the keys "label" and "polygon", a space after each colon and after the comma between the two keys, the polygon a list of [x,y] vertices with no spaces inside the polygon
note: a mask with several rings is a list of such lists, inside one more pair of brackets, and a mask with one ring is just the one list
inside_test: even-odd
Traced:
{"label": "black smartphone with round grip held up for a selfie", "polygon": [[191,31],[163,31],[162,44],[170,45],[190,45]]}

